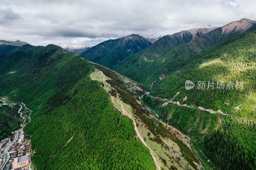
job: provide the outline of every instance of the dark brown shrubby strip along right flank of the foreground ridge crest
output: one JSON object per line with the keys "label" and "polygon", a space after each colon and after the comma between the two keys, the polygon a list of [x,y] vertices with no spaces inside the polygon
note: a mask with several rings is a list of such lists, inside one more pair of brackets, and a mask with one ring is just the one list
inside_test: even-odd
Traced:
{"label": "dark brown shrubby strip along right flank of the foreground ridge crest", "polygon": [[[98,64],[93,64],[95,66],[95,68],[101,70],[104,75],[106,75],[108,78],[111,78],[111,80],[106,80],[107,83],[109,83],[112,87],[114,87],[114,89],[112,91],[109,91],[109,93],[112,96],[116,96],[116,93],[118,93],[119,98],[127,105],[129,105],[129,107],[132,107],[132,112],[133,112],[133,116],[136,118],[137,121],[141,122],[142,125],[144,125],[147,129],[147,131],[151,134],[151,136],[154,136],[154,138],[152,138],[152,142],[156,143],[156,145],[160,145],[160,147],[165,150],[169,151],[169,147],[167,146],[166,143],[164,142],[164,140],[171,140],[172,142],[176,143],[177,147],[180,148],[180,150],[182,150],[183,152],[185,152],[188,157],[184,156],[184,159],[186,159],[186,161],[189,163],[190,166],[192,166],[193,168],[197,169],[198,166],[195,165],[194,161],[196,163],[197,159],[195,158],[195,156],[193,155],[193,153],[189,150],[188,146],[186,143],[184,143],[177,135],[176,132],[172,132],[170,131],[167,126],[165,127],[164,124],[162,124],[161,122],[156,121],[155,119],[150,118],[150,114],[149,112],[140,104],[140,102],[138,101],[138,97],[137,96],[132,96],[130,94],[130,92],[128,92],[128,90],[126,88],[124,88],[124,86],[122,85],[123,83],[119,80],[119,78],[117,77],[117,75],[115,74],[114,71],[107,69],[101,65]],[[157,128],[155,127],[155,124],[158,124]],[[137,126],[139,127],[139,125]],[[142,128],[143,129],[143,128]],[[143,135],[143,134],[142,134]],[[158,145],[158,146],[159,146]],[[163,151],[164,151],[163,149]],[[158,151],[161,151],[158,150]],[[172,151],[172,149],[170,149],[170,152]],[[167,152],[167,151],[166,151]],[[161,154],[158,156],[164,156],[166,157],[167,153],[164,152],[160,152]],[[180,151],[178,151],[180,152]],[[177,156],[177,155],[176,155]],[[174,163],[173,161],[175,160],[175,162],[179,162],[177,161],[178,158],[176,158],[176,156],[173,157],[168,157],[168,159],[166,160],[162,160],[162,162],[167,162],[167,166],[169,166],[170,168],[172,167],[172,163]],[[174,158],[175,157],[175,158]],[[172,163],[170,163],[169,161],[171,161]],[[184,161],[182,161],[184,162]],[[174,164],[176,164],[174,163]],[[183,165],[183,163],[181,163],[180,165],[178,164],[178,166]],[[176,164],[177,166],[177,164]],[[185,167],[185,166],[184,166]],[[174,168],[174,167],[173,167]],[[178,167],[177,167],[178,168]]]}

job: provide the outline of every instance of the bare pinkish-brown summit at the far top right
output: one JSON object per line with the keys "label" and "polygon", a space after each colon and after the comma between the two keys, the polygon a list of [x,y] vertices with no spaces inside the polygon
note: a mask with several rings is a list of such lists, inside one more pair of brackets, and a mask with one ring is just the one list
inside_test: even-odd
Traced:
{"label": "bare pinkish-brown summit at the far top right", "polygon": [[251,26],[256,25],[255,21],[252,21],[250,19],[240,19],[238,21],[230,22],[229,24],[222,26],[222,34],[223,33],[231,33],[236,31],[244,32],[251,28]]}

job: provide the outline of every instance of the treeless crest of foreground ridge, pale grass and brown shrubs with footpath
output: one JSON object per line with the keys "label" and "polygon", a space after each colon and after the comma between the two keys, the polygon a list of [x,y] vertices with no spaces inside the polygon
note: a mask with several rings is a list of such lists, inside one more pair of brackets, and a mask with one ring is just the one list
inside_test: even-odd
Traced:
{"label": "treeless crest of foreground ridge, pale grass and brown shrubs with footpath", "polygon": [[100,81],[114,107],[132,119],[137,136],[150,148],[150,153],[156,160],[156,169],[198,169],[200,167],[198,160],[188,148],[187,137],[172,126],[157,120],[148,107],[141,104],[140,98],[127,90],[131,89],[130,86],[138,88],[137,83],[130,84],[131,82],[127,82],[125,78],[122,82],[118,73],[96,63],[92,65],[95,71],[90,77]]}

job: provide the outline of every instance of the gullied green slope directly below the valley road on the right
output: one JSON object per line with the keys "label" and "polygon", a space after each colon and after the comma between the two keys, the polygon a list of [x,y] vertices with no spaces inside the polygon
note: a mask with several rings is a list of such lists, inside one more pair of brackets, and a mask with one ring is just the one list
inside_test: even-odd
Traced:
{"label": "gullied green slope directly below the valley road on the right", "polygon": [[204,168],[206,170],[214,169],[213,165],[207,162],[208,158],[205,158],[200,150],[204,149],[202,144],[205,143],[205,135],[215,132],[221,126],[221,121],[225,119],[225,116],[211,114],[195,108],[177,106],[176,104],[154,99],[149,95],[144,95],[141,100],[159,115],[159,119],[188,135],[191,138],[192,149],[203,162]]}

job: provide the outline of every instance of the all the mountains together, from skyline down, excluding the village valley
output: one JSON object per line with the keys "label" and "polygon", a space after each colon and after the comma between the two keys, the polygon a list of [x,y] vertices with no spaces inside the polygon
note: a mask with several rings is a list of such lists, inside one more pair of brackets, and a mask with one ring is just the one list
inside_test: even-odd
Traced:
{"label": "all the mountains together, from skyline down, excluding the village valley", "polygon": [[0,95],[32,110],[37,169],[253,170],[255,44],[256,22],[243,18],[80,55],[0,45]]}

